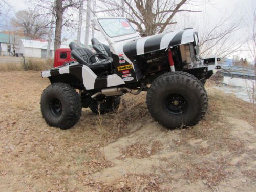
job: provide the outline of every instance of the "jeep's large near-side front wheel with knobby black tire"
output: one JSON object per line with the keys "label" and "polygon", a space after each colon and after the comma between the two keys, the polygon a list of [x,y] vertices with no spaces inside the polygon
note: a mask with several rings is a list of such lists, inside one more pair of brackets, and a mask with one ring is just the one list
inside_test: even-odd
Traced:
{"label": "jeep's large near-side front wheel with knobby black tire", "polygon": [[146,98],[152,117],[170,129],[197,124],[205,115],[207,101],[202,83],[185,72],[159,76],[151,84]]}

